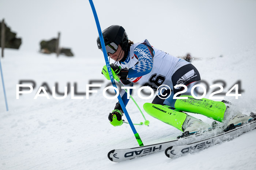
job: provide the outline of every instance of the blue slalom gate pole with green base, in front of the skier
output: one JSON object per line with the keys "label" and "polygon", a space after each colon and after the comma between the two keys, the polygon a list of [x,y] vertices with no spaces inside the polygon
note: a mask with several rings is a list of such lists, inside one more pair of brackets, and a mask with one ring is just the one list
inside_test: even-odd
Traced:
{"label": "blue slalom gate pole with green base, in front of the skier", "polygon": [[[96,22],[96,25],[97,25],[97,29],[98,29],[98,33],[99,33],[99,39],[100,39],[100,41],[101,41],[101,47],[102,47],[102,51],[103,51],[103,54],[104,54],[106,66],[107,66],[107,68],[108,68],[109,77],[110,77],[110,80],[111,80],[111,82],[112,82],[112,85],[113,85],[114,87],[116,87],[116,83],[115,83],[115,81],[114,81],[113,74],[112,74],[112,71],[111,71],[111,67],[110,67],[110,64],[109,64],[108,54],[107,54],[107,51],[106,51],[106,47],[105,47],[103,35],[102,35],[102,32],[101,32],[101,26],[99,25],[99,19],[98,19],[98,16],[97,16],[97,12],[96,12],[96,9],[95,9],[95,7],[94,7],[93,0],[89,0],[89,2],[90,2],[90,5],[91,5],[91,9],[93,10],[93,15],[94,15],[94,19],[95,19],[95,22]],[[117,87],[116,87],[116,88],[117,88]],[[125,114],[125,116],[126,116],[126,118],[127,118],[127,120],[128,120],[128,123],[129,123],[129,125],[131,126],[131,129],[132,129],[132,131],[133,131],[133,134],[134,134],[134,136],[135,136],[137,142],[139,143],[139,146],[144,146],[142,140],[140,139],[139,134],[137,133],[135,127],[133,126],[132,120],[131,120],[131,118],[130,118],[130,116],[129,116],[129,114],[128,114],[126,108],[125,108],[124,102],[123,102],[123,100],[122,100],[120,94],[118,94],[118,97],[117,97],[117,98],[118,98],[118,101],[119,101],[119,103],[120,103],[120,105],[121,105],[121,107],[122,107],[122,109],[123,109],[123,111],[124,111],[124,114]]]}

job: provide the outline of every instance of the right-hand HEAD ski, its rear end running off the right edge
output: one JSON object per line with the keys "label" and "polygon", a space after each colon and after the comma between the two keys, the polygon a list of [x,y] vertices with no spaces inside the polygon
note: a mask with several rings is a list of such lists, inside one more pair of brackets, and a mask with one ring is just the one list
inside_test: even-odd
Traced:
{"label": "right-hand HEAD ski, its rear end running off the right edge", "polygon": [[250,123],[246,123],[242,126],[236,127],[230,131],[209,137],[197,142],[185,144],[185,145],[173,145],[165,150],[165,155],[169,158],[180,157],[188,153],[195,153],[197,151],[206,149],[207,147],[222,143],[225,141],[230,141],[243,133],[256,128],[256,120]]}

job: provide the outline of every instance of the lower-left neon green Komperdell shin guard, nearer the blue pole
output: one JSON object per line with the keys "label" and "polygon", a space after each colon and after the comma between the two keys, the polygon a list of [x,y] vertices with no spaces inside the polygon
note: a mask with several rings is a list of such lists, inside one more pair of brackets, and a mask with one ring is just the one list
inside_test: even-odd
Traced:
{"label": "lower-left neon green Komperdell shin guard, nearer the blue pole", "polygon": [[145,103],[143,108],[150,116],[170,124],[182,132],[184,131],[182,124],[187,118],[187,114],[179,112],[178,110],[172,110],[170,106],[162,106],[161,104]]}

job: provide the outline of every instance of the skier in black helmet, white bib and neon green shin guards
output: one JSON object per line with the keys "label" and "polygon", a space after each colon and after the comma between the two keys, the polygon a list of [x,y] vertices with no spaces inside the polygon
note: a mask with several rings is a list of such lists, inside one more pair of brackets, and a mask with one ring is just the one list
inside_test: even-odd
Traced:
{"label": "skier in black helmet, white bib and neon green shin guards", "polygon": [[[212,126],[183,111],[202,114],[219,122],[223,121],[229,102],[193,98],[192,87],[200,84],[201,78],[198,70],[191,63],[152,47],[147,39],[140,43],[133,43],[128,39],[125,29],[119,25],[106,28],[102,35],[108,56],[116,61],[110,65],[114,71],[113,74],[118,76],[124,86],[133,86],[133,83],[138,83],[142,86],[149,86],[155,91],[161,85],[171,88],[171,91],[167,89],[162,93],[160,90],[152,103],[143,105],[149,115],[187,134],[195,134]],[[97,44],[102,50],[99,36]],[[182,87],[174,88],[177,84],[187,86],[186,92],[177,95],[188,97],[187,99],[173,99],[175,94],[184,90]],[[197,96],[197,88],[193,92]],[[122,89],[120,95],[126,106],[129,100],[128,94]],[[163,99],[166,96],[169,97]],[[122,115],[123,110],[117,102],[108,119],[113,126],[121,126]],[[251,116],[237,114],[227,125],[228,127],[236,126],[251,119]]]}

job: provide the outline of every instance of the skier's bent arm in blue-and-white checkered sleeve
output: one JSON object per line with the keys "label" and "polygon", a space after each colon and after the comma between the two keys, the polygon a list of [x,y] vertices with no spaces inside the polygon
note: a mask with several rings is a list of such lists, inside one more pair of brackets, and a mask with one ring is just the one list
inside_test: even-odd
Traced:
{"label": "skier's bent arm in blue-and-white checkered sleeve", "polygon": [[139,62],[129,68],[127,78],[136,78],[148,74],[153,67],[154,50],[146,44],[139,44],[134,50],[134,56]]}

